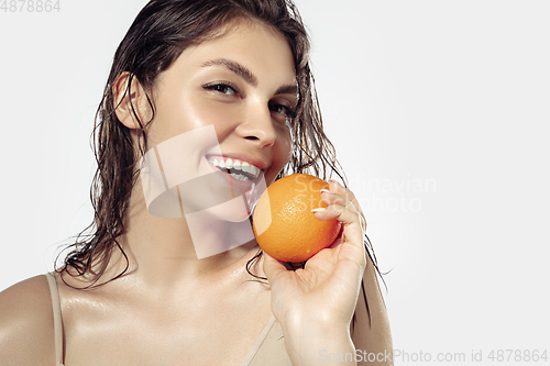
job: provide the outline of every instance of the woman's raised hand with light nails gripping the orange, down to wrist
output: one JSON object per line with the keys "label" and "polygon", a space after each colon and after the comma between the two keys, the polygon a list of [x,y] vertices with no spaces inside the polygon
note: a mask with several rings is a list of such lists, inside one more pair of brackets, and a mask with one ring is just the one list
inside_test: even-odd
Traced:
{"label": "woman's raised hand with light nails gripping the orange, down to wrist", "polygon": [[300,326],[301,322],[318,321],[342,329],[349,328],[353,315],[366,265],[359,204],[353,193],[336,181],[331,181],[329,188],[330,191],[321,192],[321,200],[327,204],[323,211],[300,212],[324,222],[338,220],[343,224],[340,236],[309,258],[305,268],[294,271],[264,254],[264,273],[272,290],[272,311],[283,326]]}

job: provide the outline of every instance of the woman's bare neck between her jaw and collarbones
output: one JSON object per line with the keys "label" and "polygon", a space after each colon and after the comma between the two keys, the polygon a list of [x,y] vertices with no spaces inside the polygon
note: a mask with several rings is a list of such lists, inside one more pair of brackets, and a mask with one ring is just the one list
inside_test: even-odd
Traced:
{"label": "woman's bare neck between her jaw and collarbones", "polygon": [[129,257],[129,273],[155,288],[245,274],[246,262],[257,251],[248,220],[215,220],[208,212],[176,219],[152,215],[139,181],[132,191],[120,242]]}

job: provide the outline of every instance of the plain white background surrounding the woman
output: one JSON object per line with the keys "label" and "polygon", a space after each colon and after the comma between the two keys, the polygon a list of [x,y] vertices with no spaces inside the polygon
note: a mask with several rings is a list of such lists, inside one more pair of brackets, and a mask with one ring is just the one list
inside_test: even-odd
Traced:
{"label": "plain white background surrounding the woman", "polygon": [[[397,364],[550,352],[550,2],[297,3],[328,134],[391,270],[394,347],[411,359]],[[0,11],[0,290],[52,269],[91,222],[92,119],[144,4]]]}

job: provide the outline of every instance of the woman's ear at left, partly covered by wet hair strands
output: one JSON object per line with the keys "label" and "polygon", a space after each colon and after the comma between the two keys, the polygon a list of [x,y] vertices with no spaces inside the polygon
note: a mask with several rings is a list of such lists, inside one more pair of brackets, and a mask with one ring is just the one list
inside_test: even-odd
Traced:
{"label": "woman's ear at left, partly covered by wet hair strands", "polygon": [[[141,130],[133,111],[140,118],[141,123],[144,124],[151,119],[151,106],[148,104],[145,90],[135,76],[132,77],[130,89],[128,88],[130,77],[131,74],[124,71],[117,78],[117,81],[112,86],[113,108],[119,121],[123,125],[131,130]],[[132,101],[133,110],[130,100]]]}

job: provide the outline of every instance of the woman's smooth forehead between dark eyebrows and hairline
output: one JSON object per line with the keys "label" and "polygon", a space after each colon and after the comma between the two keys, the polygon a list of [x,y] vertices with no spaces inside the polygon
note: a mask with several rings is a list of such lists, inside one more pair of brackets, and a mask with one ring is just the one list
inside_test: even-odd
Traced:
{"label": "woman's smooth forehead between dark eyebrows and hairline", "polygon": [[227,58],[251,69],[260,82],[295,81],[293,53],[277,30],[257,21],[240,21],[213,33],[212,37],[187,47],[166,71],[191,71],[210,60]]}

